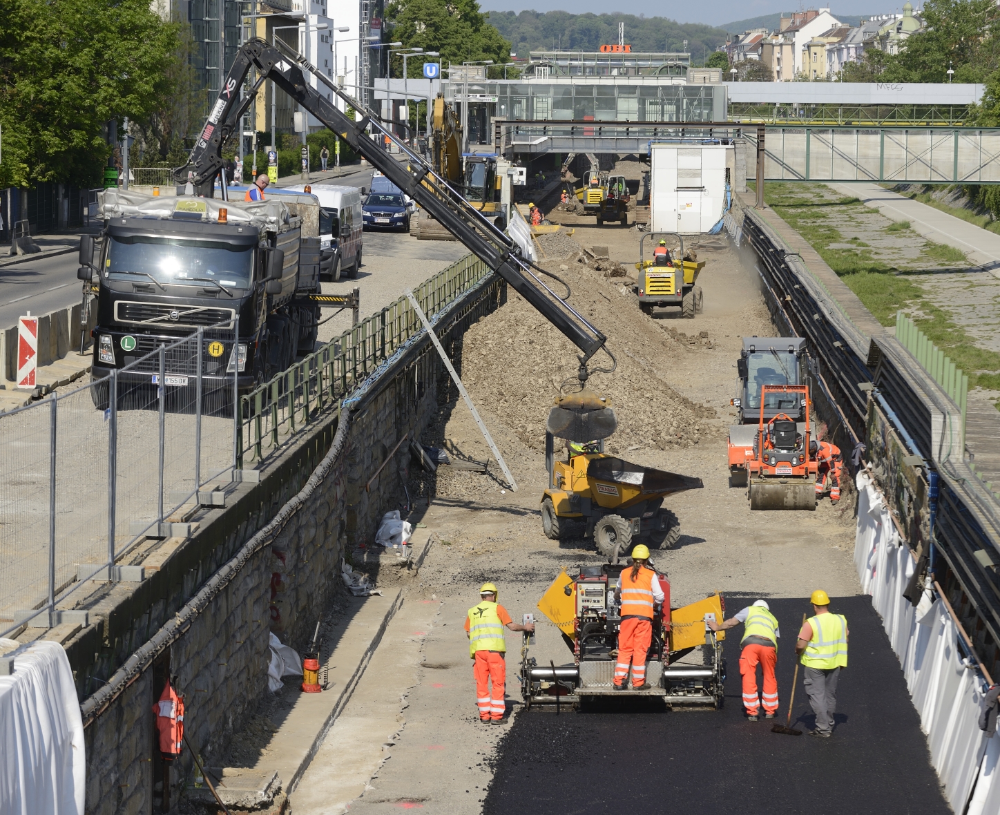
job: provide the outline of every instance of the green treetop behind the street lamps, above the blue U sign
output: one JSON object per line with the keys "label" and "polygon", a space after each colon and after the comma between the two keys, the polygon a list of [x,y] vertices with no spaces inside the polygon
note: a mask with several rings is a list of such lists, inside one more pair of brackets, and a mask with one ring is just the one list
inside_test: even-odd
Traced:
{"label": "green treetop behind the street lamps, above the blue U sign", "polygon": [[[394,40],[406,48],[439,52],[445,69],[449,62],[510,62],[510,43],[487,22],[476,0],[392,0],[386,7],[385,19],[392,26]],[[402,76],[402,57],[393,55],[391,67],[393,76]],[[422,75],[419,57],[407,60],[407,73],[412,77]],[[490,75],[497,75],[495,67]],[[503,76],[502,69],[499,75]]]}

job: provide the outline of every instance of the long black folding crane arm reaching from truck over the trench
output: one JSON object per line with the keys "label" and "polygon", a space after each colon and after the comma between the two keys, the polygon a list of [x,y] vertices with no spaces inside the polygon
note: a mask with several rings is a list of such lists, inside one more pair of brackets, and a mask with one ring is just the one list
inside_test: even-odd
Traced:
{"label": "long black folding crane arm reaching from truck over the trench", "polygon": [[[258,78],[241,101],[240,89],[251,69],[257,71]],[[312,73],[347,105],[362,112],[362,118],[355,122],[339,110],[306,81],[303,71]],[[399,144],[371,111],[298,54],[283,53],[260,39],[250,40],[240,48],[188,163],[175,171],[178,182],[189,181],[198,194],[213,195],[215,178],[223,168],[222,146],[239,127],[241,117],[265,80],[273,81],[326,127],[341,134],[358,154],[440,221],[456,239],[538,309],[580,349],[580,378],[587,378],[586,363],[604,348],[604,334],[541,280],[531,264],[520,256],[519,248],[510,238],[484,218],[422,158]],[[401,152],[409,159],[408,163],[396,161],[373,141],[365,132],[369,127],[379,141],[389,136],[399,144]]]}

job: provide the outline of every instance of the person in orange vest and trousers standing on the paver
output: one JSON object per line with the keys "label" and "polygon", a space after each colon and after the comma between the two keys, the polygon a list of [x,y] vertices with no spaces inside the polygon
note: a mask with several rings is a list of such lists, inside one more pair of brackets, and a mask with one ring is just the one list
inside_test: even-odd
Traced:
{"label": "person in orange vest and trousers standing on the paver", "polygon": [[653,641],[653,618],[665,595],[656,572],[646,564],[649,549],[639,544],[632,550],[632,566],[618,576],[615,600],[621,603],[621,627],[618,629],[618,659],[615,665],[615,690],[625,690],[628,666],[632,664],[632,689],[648,688],[646,654]]}

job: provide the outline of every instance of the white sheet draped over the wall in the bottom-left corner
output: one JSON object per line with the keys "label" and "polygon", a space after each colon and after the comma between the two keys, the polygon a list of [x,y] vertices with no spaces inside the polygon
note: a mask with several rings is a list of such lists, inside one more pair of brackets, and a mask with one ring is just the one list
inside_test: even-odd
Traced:
{"label": "white sheet draped over the wall in the bottom-left corner", "polygon": [[83,720],[62,646],[0,639],[0,812],[83,815]]}

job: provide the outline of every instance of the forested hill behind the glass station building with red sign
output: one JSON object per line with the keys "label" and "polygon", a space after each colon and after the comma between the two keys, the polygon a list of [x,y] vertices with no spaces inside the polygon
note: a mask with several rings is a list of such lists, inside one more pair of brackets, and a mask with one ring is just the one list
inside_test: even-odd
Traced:
{"label": "forested hill behind the glass station building with red sign", "polygon": [[[491,11],[489,22],[521,58],[529,51],[597,51],[618,42],[618,23],[625,23],[625,42],[633,51],[683,51],[700,65],[726,41],[726,31],[700,23],[678,23],[666,17],[632,14],[569,14],[565,11]],[[743,29],[740,29],[741,31]]]}

